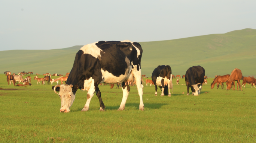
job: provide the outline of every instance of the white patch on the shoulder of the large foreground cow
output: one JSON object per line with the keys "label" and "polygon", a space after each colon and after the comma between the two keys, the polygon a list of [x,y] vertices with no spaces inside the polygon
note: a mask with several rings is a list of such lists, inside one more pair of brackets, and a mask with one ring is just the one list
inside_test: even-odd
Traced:
{"label": "white patch on the shoulder of the large foreground cow", "polygon": [[102,51],[100,48],[95,45],[97,42],[92,44],[84,45],[80,50],[83,51],[83,54],[90,54],[95,58],[100,57],[100,51]]}

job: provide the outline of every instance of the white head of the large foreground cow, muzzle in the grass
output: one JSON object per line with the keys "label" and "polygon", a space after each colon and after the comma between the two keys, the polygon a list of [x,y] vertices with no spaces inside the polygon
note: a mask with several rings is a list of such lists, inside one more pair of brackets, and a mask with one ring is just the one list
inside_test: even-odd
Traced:
{"label": "white head of the large foreground cow, muzzle in the grass", "polygon": [[79,88],[78,85],[55,85],[52,86],[52,89],[55,93],[60,96],[61,99],[61,108],[60,112],[68,113],[70,107],[72,106],[74,99],[76,98],[76,90]]}

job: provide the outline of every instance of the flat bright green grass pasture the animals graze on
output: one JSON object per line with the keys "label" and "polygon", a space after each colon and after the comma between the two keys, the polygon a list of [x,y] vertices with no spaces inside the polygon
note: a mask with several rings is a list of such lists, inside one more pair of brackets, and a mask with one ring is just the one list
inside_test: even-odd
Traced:
{"label": "flat bright green grass pasture the animals graze on", "polygon": [[0,90],[0,142],[256,142],[255,88],[210,89],[211,78],[201,95],[191,96],[190,90],[187,96],[185,80],[175,81],[171,97],[161,97],[159,89],[154,96],[155,88],[144,85],[145,111],[138,110],[136,87],[131,87],[125,110],[116,111],[122,89],[106,85],[100,86],[105,112],[99,111],[97,96],[89,111],[80,112],[87,92],[77,90],[71,111],[63,114],[52,85],[32,80],[28,87],[8,86],[0,74],[0,88],[18,89]]}

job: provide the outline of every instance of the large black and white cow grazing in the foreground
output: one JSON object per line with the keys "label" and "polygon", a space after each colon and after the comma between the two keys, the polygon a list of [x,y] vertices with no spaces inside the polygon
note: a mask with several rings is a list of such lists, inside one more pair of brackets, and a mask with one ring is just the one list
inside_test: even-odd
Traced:
{"label": "large black and white cow grazing in the foreground", "polygon": [[76,90],[86,90],[87,101],[82,111],[88,111],[94,92],[100,101],[100,111],[105,110],[98,88],[100,83],[122,83],[123,99],[118,110],[124,110],[130,91],[127,78],[133,74],[138,95],[140,96],[139,108],[144,110],[143,85],[141,84],[142,48],[137,42],[125,41],[100,41],[83,46],[76,54],[72,70],[66,85],[52,86],[52,89],[61,98],[60,112],[69,112],[76,96]]}

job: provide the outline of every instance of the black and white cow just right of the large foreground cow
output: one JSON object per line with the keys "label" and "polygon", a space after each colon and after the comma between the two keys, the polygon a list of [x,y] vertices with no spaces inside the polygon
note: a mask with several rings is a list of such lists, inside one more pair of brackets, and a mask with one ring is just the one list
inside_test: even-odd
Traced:
{"label": "black and white cow just right of the large foreground cow", "polygon": [[[161,96],[168,95],[171,96],[171,90],[173,89],[173,80],[172,80],[172,74],[171,74],[171,67],[162,65],[158,66],[152,73],[152,81],[155,85],[156,93],[155,96],[157,96],[157,86],[161,89],[162,93]],[[168,93],[169,89],[169,93]]]}

